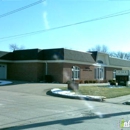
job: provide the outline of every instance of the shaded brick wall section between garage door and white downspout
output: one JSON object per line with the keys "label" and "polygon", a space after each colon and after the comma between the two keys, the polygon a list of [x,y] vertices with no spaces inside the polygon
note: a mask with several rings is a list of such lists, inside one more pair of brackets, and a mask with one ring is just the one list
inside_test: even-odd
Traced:
{"label": "shaded brick wall section between garage door and white downspout", "polygon": [[7,78],[37,82],[43,80],[44,70],[45,64],[42,63],[9,63]]}

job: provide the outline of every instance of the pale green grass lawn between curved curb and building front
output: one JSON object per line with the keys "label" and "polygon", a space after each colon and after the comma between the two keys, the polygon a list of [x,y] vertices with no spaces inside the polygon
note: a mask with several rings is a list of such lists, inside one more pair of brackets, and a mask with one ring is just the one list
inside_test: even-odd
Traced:
{"label": "pale green grass lawn between curved curb and building front", "polygon": [[80,86],[79,92],[84,95],[104,96],[106,98],[114,98],[130,94],[130,88],[108,88],[99,86]]}

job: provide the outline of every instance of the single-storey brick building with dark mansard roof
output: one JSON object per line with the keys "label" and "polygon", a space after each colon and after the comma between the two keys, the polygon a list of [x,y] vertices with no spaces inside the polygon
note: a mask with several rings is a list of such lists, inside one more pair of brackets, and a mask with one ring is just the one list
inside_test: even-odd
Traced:
{"label": "single-storey brick building with dark mansard roof", "polygon": [[52,81],[110,80],[115,70],[130,70],[130,61],[101,52],[79,52],[64,48],[0,51],[0,79]]}

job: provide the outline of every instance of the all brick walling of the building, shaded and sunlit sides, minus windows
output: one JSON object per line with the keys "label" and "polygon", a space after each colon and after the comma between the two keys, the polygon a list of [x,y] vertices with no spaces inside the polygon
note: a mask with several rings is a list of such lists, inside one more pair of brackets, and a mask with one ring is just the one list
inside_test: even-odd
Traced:
{"label": "all brick walling of the building, shaded and sunlit sides, minus windows", "polygon": [[[66,83],[72,80],[72,66],[80,68],[80,81],[95,80],[94,66],[71,63],[47,63],[47,74],[53,77],[53,81]],[[86,69],[87,68],[87,69]],[[113,78],[113,71],[119,68],[105,67],[105,79]],[[121,68],[120,68],[121,70]],[[12,80],[43,81],[46,75],[45,63],[8,63],[7,78]]]}

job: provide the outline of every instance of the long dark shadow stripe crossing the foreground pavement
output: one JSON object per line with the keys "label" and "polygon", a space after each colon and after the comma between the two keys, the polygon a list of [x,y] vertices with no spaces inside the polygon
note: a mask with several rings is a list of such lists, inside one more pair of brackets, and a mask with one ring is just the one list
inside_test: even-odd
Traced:
{"label": "long dark shadow stripe crossing the foreground pavement", "polygon": [[[110,117],[114,117],[114,116],[121,116],[121,115],[128,115],[128,114],[130,114],[130,111],[112,113],[112,114],[104,114],[103,118],[110,118]],[[66,126],[66,125],[72,125],[72,124],[77,124],[77,123],[83,123],[83,121],[92,120],[92,119],[96,119],[96,118],[99,118],[99,116],[94,115],[94,116],[89,116],[89,117],[61,119],[61,120],[40,122],[40,123],[34,123],[34,124],[27,124],[27,125],[22,125],[22,126],[7,127],[7,128],[2,128],[0,130],[23,130],[23,129],[44,127],[44,126],[55,125],[55,124],[61,124],[61,125]],[[99,118],[99,119],[102,119],[102,118]]]}

